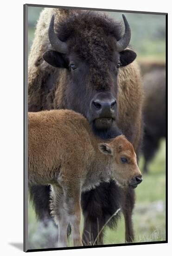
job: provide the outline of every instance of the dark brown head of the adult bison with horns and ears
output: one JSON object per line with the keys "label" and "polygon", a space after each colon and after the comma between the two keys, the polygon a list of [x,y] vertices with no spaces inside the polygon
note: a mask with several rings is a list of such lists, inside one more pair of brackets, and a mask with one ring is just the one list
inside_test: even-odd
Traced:
{"label": "dark brown head of the adult bison with horns and ears", "polygon": [[118,70],[136,57],[126,49],[131,31],[122,16],[123,35],[119,22],[95,12],[76,12],[58,24],[52,15],[51,49],[43,54],[50,65],[65,69],[65,108],[82,113],[103,136],[113,130],[118,115]]}

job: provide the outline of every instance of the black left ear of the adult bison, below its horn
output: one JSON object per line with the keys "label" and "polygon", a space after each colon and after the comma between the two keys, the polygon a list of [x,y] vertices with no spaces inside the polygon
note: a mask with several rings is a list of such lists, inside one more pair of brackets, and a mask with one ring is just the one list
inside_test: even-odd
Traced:
{"label": "black left ear of the adult bison, below its horn", "polygon": [[68,67],[64,54],[49,50],[42,55],[42,58],[53,67]]}

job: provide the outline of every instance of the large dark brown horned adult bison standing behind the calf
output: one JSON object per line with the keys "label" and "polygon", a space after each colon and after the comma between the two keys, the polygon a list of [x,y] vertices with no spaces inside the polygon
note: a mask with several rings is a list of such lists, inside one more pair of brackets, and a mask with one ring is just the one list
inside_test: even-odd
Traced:
{"label": "large dark brown horned adult bison standing behind the calf", "polygon": [[[95,11],[45,8],[38,20],[28,63],[28,110],[72,109],[83,114],[94,133],[115,137],[115,127],[136,154],[142,137],[142,85],[136,54],[128,49],[131,31]],[[127,49],[126,49],[127,48]],[[32,186],[31,198],[41,220],[50,216],[48,186]],[[102,183],[82,194],[83,244],[93,244],[99,230],[122,209],[125,241],[134,240],[134,190]],[[119,214],[108,225],[115,226]],[[99,236],[102,242],[103,234]]]}

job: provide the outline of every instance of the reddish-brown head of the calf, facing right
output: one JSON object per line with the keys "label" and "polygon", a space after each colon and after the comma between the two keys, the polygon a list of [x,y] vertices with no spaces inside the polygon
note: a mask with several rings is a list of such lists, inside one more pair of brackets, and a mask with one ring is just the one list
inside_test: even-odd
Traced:
{"label": "reddish-brown head of the calf, facing right", "polygon": [[133,145],[124,135],[117,136],[108,143],[100,143],[98,148],[110,158],[111,175],[120,185],[136,188],[142,182]]}

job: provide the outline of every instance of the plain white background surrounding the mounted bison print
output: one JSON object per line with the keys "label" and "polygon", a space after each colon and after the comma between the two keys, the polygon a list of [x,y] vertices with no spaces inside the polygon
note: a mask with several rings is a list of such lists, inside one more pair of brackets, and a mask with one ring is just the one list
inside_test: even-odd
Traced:
{"label": "plain white background surrounding the mounted bison print", "polygon": [[[172,24],[170,0],[35,0],[1,1],[0,3],[0,254],[20,255],[22,249],[13,244],[23,242],[23,4],[49,4],[73,7],[93,7],[135,11],[164,12],[169,15],[169,131],[171,131],[172,95]],[[172,29],[171,29],[172,30]],[[160,106],[159,106],[160,108]],[[158,109],[157,109],[158,111]],[[172,135],[168,135],[169,145]],[[33,252],[32,255],[170,255],[172,250],[172,174],[169,147],[169,243],[122,246],[97,249],[78,249],[51,252]],[[156,184],[153,184],[156,189]],[[141,222],[141,219],[140,219]]]}

